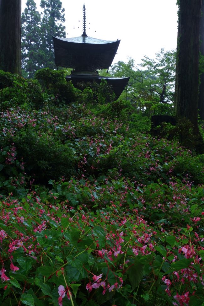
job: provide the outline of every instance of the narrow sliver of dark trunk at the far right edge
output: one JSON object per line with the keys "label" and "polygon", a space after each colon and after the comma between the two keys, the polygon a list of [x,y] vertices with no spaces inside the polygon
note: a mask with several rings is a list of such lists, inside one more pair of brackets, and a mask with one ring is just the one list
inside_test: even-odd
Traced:
{"label": "narrow sliver of dark trunk at the far right edge", "polygon": [[[202,16],[201,16],[201,26],[200,26],[200,53],[204,56],[204,0],[202,0]],[[204,72],[200,75],[200,86],[199,86],[199,97],[198,97],[198,109],[199,115],[202,120],[204,120]]]}

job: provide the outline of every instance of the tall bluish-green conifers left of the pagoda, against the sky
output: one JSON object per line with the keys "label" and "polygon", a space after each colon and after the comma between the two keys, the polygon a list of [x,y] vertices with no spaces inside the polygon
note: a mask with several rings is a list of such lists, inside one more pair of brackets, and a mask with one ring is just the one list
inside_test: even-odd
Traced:
{"label": "tall bluish-green conifers left of the pagoda, against the sky", "polygon": [[24,77],[33,78],[41,68],[55,68],[52,35],[65,37],[65,26],[60,23],[65,18],[59,0],[41,0],[41,18],[33,0],[26,5],[22,13],[22,67]]}

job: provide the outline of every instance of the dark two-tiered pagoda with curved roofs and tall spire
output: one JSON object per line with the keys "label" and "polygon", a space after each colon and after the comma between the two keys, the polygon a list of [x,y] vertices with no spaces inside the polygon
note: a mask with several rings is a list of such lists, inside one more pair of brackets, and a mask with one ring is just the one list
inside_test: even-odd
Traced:
{"label": "dark two-tiered pagoda with curved roofs and tall spire", "polygon": [[53,36],[53,41],[56,66],[72,68],[71,74],[66,77],[67,82],[72,81],[74,87],[78,87],[78,83],[94,81],[100,83],[104,79],[112,86],[115,98],[119,98],[130,77],[99,76],[98,70],[108,69],[111,66],[120,40],[110,41],[89,37],[86,34],[85,5],[83,5],[83,34],[73,38]]}

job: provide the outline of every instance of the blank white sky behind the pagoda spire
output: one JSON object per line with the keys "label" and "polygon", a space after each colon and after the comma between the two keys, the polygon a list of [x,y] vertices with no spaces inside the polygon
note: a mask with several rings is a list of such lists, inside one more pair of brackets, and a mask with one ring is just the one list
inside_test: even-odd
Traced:
{"label": "blank white sky behind the pagoda spire", "polygon": [[[86,34],[104,40],[121,40],[113,63],[127,62],[127,57],[131,56],[135,59],[135,64],[139,64],[144,55],[154,58],[155,53],[161,48],[176,49],[178,19],[176,0],[61,0],[61,2],[65,8],[67,37],[81,36],[83,3],[85,3]],[[26,0],[22,0],[22,11],[26,7],[25,3]],[[35,3],[40,11],[40,0],[35,0]]]}

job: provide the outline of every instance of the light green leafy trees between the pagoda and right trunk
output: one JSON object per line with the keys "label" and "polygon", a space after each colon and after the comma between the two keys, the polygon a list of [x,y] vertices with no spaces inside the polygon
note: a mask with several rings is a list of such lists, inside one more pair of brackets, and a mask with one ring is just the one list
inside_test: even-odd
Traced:
{"label": "light green leafy trees between the pagoda and right trunk", "polygon": [[[131,77],[127,99],[144,115],[172,115],[175,58],[174,51],[161,49],[160,53],[156,54],[156,59],[146,56],[138,67],[132,58],[129,58],[127,63],[118,62],[111,67],[110,74],[114,77]],[[121,98],[126,99],[125,92]]]}

